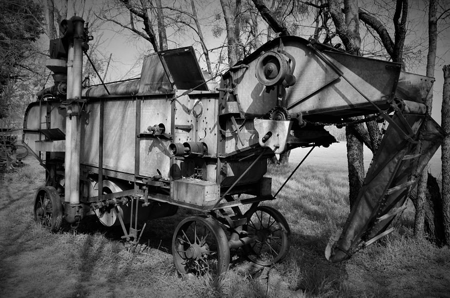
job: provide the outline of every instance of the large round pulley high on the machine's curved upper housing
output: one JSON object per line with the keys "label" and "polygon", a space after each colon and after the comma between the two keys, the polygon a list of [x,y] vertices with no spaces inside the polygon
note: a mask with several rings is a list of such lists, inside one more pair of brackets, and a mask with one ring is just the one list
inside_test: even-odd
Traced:
{"label": "large round pulley high on the machine's curved upper housing", "polygon": [[256,77],[265,86],[281,83],[288,73],[289,66],[286,59],[277,52],[265,52],[256,62]]}

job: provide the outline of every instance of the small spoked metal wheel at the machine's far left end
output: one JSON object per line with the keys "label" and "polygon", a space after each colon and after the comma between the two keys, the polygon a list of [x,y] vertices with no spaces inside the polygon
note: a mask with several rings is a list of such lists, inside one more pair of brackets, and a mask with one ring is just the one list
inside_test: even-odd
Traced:
{"label": "small spoked metal wheel at the machine's far left end", "polygon": [[62,204],[52,186],[40,187],[34,200],[34,220],[51,232],[58,231],[62,223]]}

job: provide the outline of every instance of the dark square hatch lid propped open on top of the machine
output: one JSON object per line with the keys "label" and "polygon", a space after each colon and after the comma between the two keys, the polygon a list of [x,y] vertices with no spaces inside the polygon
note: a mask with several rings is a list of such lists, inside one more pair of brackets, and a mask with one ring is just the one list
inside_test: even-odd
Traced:
{"label": "dark square hatch lid propped open on top of the machine", "polygon": [[158,55],[172,86],[187,90],[208,91],[192,46],[159,51]]}

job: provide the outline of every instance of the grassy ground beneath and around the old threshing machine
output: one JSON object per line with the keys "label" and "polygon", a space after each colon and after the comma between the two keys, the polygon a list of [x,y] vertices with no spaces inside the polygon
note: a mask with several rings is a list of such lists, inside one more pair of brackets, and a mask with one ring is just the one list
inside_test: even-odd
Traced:
{"label": "grassy ground beneath and around the old threshing machine", "polygon": [[[349,261],[326,262],[328,237],[349,211],[344,147],[314,149],[278,198],[267,203],[291,228],[284,261],[260,270],[235,251],[221,280],[188,279],[175,272],[170,241],[179,220],[192,213],[188,210],[150,221],[141,252],[123,245],[120,230],[107,229],[95,218],[48,233],[32,219],[34,191],[43,184],[44,172],[28,157],[21,169],[0,178],[1,296],[450,297],[450,249],[413,240],[412,211],[403,213],[394,233]],[[291,160],[301,159],[304,150],[292,152]],[[269,168],[273,191],[295,165]]]}

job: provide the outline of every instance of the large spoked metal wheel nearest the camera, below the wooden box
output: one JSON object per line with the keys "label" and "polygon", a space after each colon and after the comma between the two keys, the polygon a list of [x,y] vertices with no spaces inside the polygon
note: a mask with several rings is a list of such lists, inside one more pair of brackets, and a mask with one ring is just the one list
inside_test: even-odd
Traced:
{"label": "large spoked metal wheel nearest the camera, below the wooden box", "polygon": [[228,239],[211,217],[189,216],[175,229],[172,255],[181,274],[218,276],[228,269]]}

